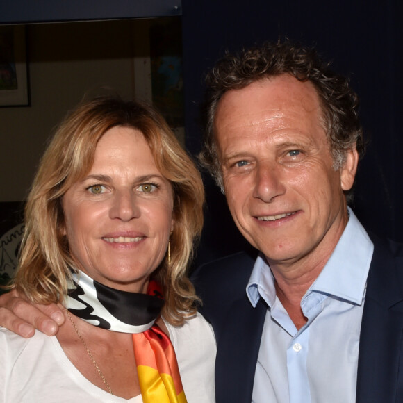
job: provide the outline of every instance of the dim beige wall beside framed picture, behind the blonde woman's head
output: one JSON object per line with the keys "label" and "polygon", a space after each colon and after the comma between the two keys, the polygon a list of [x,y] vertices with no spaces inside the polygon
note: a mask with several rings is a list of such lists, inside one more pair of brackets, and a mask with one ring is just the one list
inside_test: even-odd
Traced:
{"label": "dim beige wall beside framed picture, behind the blonde woman's head", "polygon": [[109,87],[133,97],[133,33],[141,21],[26,27],[31,106],[0,108],[0,201],[25,199],[49,135],[84,94]]}

